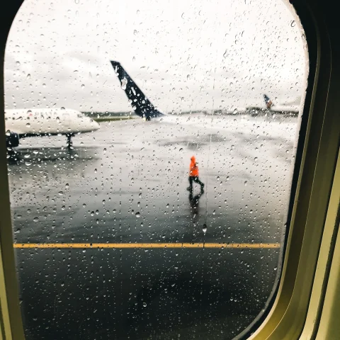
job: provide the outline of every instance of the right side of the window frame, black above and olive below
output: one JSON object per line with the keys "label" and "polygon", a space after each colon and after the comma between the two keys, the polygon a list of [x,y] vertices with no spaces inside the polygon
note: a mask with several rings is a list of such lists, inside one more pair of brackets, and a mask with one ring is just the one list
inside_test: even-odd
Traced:
{"label": "right side of the window frame, black above and olive below", "polygon": [[[316,273],[319,257],[322,256],[320,249],[324,232],[328,231],[336,236],[339,226],[339,223],[336,225],[337,212],[334,212],[334,209],[329,210],[329,204],[332,203],[331,190],[339,185],[339,181],[334,181],[334,173],[340,137],[340,115],[334,110],[340,105],[339,98],[336,98],[339,97],[336,96],[336,89],[339,90],[339,81],[336,81],[339,79],[339,72],[334,72],[337,70],[332,63],[333,60],[339,60],[339,47],[334,48],[335,32],[329,29],[329,13],[334,7],[330,2],[293,3],[305,30],[310,60],[303,111],[306,130],[304,135],[302,120],[290,200],[292,207],[288,215],[290,225],[286,234],[283,271],[278,292],[266,319],[262,320],[259,328],[251,329],[247,334],[251,340],[299,339],[304,335],[302,331],[306,326],[307,313],[318,307],[319,317],[322,313],[321,292],[314,300],[310,300],[310,297],[315,283],[320,279]],[[324,8],[329,10],[327,16]],[[304,137],[305,140],[301,140]],[[339,197],[334,199],[339,204]],[[325,229],[326,217],[333,221],[329,223],[328,229]],[[322,251],[333,254],[331,244]],[[331,259],[332,256],[327,263]],[[322,282],[326,279],[324,276]],[[304,339],[313,339],[318,326],[318,319],[314,318],[309,324],[313,332],[310,337]],[[254,334],[250,336],[252,331]]]}

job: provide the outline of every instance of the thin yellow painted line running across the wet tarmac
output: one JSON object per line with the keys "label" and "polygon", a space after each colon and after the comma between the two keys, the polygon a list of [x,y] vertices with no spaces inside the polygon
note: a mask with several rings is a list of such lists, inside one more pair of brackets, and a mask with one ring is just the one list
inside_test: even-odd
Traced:
{"label": "thin yellow painted line running across the wet tarmac", "polygon": [[279,243],[15,243],[14,248],[280,248]]}

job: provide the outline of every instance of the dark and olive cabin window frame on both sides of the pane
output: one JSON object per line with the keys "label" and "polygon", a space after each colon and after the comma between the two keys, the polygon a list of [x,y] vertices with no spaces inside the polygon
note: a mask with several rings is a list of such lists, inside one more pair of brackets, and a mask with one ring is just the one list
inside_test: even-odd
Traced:
{"label": "dark and olive cabin window frame on both sides of the pane", "polygon": [[[245,339],[250,336],[249,339],[254,340],[298,339],[303,334],[304,325],[309,326],[309,330],[312,327],[312,334],[315,335],[319,324],[324,322],[324,317],[322,317],[324,303],[327,306],[327,283],[332,273],[329,264],[333,256],[331,245],[326,248],[330,250],[331,255],[327,261],[324,260],[325,268],[322,267],[324,271],[321,270],[321,273],[320,267],[317,268],[317,263],[321,260],[320,256],[322,257],[319,250],[322,242],[324,244],[324,239],[322,239],[323,236],[325,237],[324,233],[328,232],[331,237],[335,237],[336,221],[339,225],[339,219],[336,217],[338,216],[336,214],[339,214],[339,204],[337,209],[334,207],[332,210],[329,209],[329,204],[332,202],[336,205],[336,199],[339,203],[339,197],[337,198],[336,194],[333,200],[331,198],[332,186],[334,189],[334,186],[339,185],[339,176],[334,179],[340,135],[339,128],[337,128],[340,126],[340,116],[336,115],[336,108],[340,107],[340,96],[336,96],[340,84],[340,70],[336,67],[336,60],[340,60],[339,47],[336,46],[337,38],[339,38],[336,34],[335,13],[337,12],[331,0],[324,0],[322,4],[313,0],[292,2],[306,33],[310,74],[293,173],[288,215],[290,226],[286,234],[283,269],[276,299],[270,302],[268,315],[264,315],[266,319],[264,321],[259,319],[237,338],[242,336]],[[6,1],[6,5],[1,5],[3,11],[0,11],[0,106],[2,108],[0,133],[3,136],[3,142],[0,143],[0,337],[3,339],[25,339],[18,300],[6,143],[4,142],[6,138],[4,52],[13,18],[22,3],[23,0]],[[332,63],[333,60],[334,63]],[[327,221],[331,221],[329,225]],[[332,244],[334,250],[335,242]],[[336,261],[334,263],[336,264]],[[326,267],[329,268],[329,275],[327,275]],[[319,288],[319,291],[324,292],[324,295],[314,293],[313,296],[312,294],[312,289],[314,292],[317,289],[315,286],[318,283],[317,280],[322,280],[322,288]],[[339,276],[338,280],[340,281]],[[311,300],[311,295],[314,300]],[[326,296],[325,299],[322,299],[322,296]],[[296,312],[297,310],[299,313]],[[307,312],[308,315],[311,312],[317,314],[317,319],[314,322],[308,322]]]}

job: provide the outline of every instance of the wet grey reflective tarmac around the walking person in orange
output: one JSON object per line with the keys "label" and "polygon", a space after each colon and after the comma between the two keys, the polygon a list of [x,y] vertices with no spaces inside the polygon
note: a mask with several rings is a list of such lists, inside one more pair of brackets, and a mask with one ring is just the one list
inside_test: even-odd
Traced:
{"label": "wet grey reflective tarmac around the walking person in orange", "polygon": [[[166,116],[22,140],[8,176],[27,339],[232,339],[278,275],[297,118]],[[189,200],[196,156],[204,193]]]}

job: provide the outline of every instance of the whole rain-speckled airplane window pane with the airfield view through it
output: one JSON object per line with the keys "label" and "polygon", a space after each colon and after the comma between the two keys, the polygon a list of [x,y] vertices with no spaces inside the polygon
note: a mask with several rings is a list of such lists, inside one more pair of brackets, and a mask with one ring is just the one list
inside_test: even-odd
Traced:
{"label": "whole rain-speckled airplane window pane with the airfield view through it", "polygon": [[233,339],[261,316],[307,65],[281,0],[24,1],[5,99],[27,339]]}

